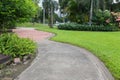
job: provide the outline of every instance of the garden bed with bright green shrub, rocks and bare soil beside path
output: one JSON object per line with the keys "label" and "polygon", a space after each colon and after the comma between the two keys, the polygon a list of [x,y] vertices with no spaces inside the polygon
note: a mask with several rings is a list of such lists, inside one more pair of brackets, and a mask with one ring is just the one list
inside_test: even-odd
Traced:
{"label": "garden bed with bright green shrub, rocks and bare soil beside path", "polygon": [[[36,43],[13,33],[0,35],[0,80],[14,80],[35,58]],[[7,55],[7,56],[5,56]]]}

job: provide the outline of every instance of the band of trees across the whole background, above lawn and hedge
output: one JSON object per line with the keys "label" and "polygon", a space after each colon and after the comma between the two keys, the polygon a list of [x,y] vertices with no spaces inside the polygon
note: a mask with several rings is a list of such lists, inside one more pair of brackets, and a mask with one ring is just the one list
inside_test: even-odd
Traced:
{"label": "band of trees across the whole background, above lawn and hedge", "polygon": [[[92,0],[59,0],[59,3],[55,0],[43,0],[43,10],[38,6],[39,1],[0,0],[0,28],[13,28],[16,23],[28,20],[48,22],[50,27],[53,27],[56,19],[88,24],[90,16],[93,16],[92,21],[104,24],[107,18],[111,18],[103,15],[106,10],[108,10],[107,14],[120,11],[120,2],[113,4],[113,0],[93,0],[93,3],[91,3]],[[92,15],[90,15],[91,5],[93,6]],[[60,18],[55,14],[58,8]]]}

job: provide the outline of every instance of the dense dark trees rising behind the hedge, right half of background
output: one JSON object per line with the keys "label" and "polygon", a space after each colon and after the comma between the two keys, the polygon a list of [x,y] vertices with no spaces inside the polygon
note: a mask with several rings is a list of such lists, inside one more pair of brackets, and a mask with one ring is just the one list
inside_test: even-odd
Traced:
{"label": "dense dark trees rising behind the hedge, right half of background", "polygon": [[[87,23],[89,22],[90,6],[92,0],[59,0],[61,14],[67,13],[67,18],[71,22]],[[93,16],[96,13],[105,10],[110,12],[120,11],[120,2],[113,4],[113,0],[93,0]],[[100,17],[102,17],[101,15]],[[106,18],[105,18],[106,19]],[[98,20],[99,21],[99,20]]]}

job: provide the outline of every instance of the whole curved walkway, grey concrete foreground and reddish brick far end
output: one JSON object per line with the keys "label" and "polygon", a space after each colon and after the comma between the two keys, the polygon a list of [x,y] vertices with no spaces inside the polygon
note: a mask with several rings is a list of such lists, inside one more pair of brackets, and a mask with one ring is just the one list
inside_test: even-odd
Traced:
{"label": "whole curved walkway, grey concrete foreground and reddish brick far end", "polygon": [[[21,37],[25,36],[23,30],[14,31]],[[34,31],[28,30],[25,34],[32,39],[36,35],[37,57],[16,80],[114,80],[103,63],[90,52],[69,44],[49,41],[46,38],[51,33],[37,31],[41,33],[38,35]]]}

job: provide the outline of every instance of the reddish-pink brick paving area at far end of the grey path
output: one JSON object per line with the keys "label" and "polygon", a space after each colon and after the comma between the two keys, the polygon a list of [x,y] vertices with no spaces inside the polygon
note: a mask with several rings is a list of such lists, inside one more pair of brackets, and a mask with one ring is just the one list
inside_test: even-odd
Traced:
{"label": "reddish-pink brick paving area at far end of the grey path", "polygon": [[52,33],[38,31],[34,29],[29,29],[29,28],[13,29],[13,32],[18,34],[19,37],[30,38],[31,40],[34,40],[36,42],[43,41],[52,35]]}

